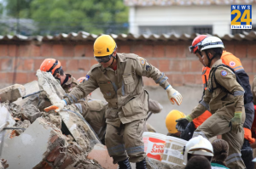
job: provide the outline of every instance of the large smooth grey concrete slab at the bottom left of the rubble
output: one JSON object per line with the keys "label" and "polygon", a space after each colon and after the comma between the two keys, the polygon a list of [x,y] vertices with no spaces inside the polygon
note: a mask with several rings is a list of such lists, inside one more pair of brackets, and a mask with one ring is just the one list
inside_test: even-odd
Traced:
{"label": "large smooth grey concrete slab at the bottom left of the rubble", "polygon": [[57,146],[67,146],[61,131],[38,118],[20,136],[5,138],[3,159],[7,160],[9,168],[42,166],[45,157]]}

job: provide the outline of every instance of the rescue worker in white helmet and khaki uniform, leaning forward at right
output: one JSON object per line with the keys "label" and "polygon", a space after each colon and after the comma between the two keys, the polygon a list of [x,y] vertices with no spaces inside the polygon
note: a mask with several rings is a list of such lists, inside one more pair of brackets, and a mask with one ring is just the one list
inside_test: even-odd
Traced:
{"label": "rescue worker in white helmet and khaki uniform, leaning forward at right", "polygon": [[192,121],[210,110],[212,115],[195,130],[193,137],[212,138],[222,134],[230,147],[227,166],[244,169],[240,154],[244,135],[242,124],[245,121],[244,89],[237,82],[236,74],[222,63],[223,48],[224,44],[218,37],[206,37],[199,45],[203,64],[211,68],[207,90],[192,113],[177,120],[177,127],[183,125],[183,121]]}

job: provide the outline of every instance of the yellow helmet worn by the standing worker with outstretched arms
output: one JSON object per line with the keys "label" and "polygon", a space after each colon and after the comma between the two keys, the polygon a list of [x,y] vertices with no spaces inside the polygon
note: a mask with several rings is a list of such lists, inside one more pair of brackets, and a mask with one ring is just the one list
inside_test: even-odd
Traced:
{"label": "yellow helmet worn by the standing worker with outstretched arms", "polygon": [[109,35],[102,35],[96,38],[93,45],[93,53],[95,57],[108,56],[113,54],[116,43]]}

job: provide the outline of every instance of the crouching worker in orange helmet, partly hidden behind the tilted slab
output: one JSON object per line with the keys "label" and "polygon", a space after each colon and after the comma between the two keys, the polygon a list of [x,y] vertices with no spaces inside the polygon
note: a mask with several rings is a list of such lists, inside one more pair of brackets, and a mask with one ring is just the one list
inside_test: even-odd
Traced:
{"label": "crouching worker in orange helmet, partly hidden behind the tilted slab", "polygon": [[[61,62],[57,59],[44,59],[40,65],[40,70],[51,72],[55,79],[60,82],[61,87],[66,93],[70,93],[74,87],[79,85],[79,82],[72,75],[65,74]],[[47,100],[47,98],[43,100]],[[104,144],[105,128],[107,127],[105,112],[108,103],[98,99],[91,99],[90,95],[86,95],[83,99],[78,99],[76,102],[73,102],[73,104],[76,109],[79,110],[80,114],[84,116],[84,119],[90,124],[94,132],[96,132],[102,144]],[[50,105],[49,101],[44,101],[44,105],[41,104],[40,109]]]}

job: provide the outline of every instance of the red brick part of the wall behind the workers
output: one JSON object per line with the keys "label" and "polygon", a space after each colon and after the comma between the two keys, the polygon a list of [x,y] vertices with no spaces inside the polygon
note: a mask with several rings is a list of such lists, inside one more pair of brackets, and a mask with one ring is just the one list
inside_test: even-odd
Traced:
{"label": "red brick part of the wall behind the workers", "polygon": [[[47,58],[61,61],[65,72],[75,78],[85,76],[93,58],[94,41],[1,41],[0,85],[24,84],[37,80],[36,70]],[[172,86],[201,85],[201,64],[189,53],[192,41],[117,41],[118,52],[133,53],[147,59],[152,65],[166,73]],[[256,75],[256,41],[224,41],[227,51],[241,59],[250,81]],[[16,72],[16,73],[15,73]],[[155,86],[153,80],[145,78],[146,86]]]}

